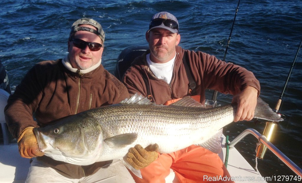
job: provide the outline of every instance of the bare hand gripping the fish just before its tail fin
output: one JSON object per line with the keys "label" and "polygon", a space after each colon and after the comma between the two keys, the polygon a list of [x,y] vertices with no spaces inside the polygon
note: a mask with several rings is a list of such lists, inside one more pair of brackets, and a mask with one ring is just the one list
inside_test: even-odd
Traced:
{"label": "bare hand gripping the fish just before its tail fin", "polygon": [[239,94],[233,97],[232,103],[237,103],[237,112],[234,122],[252,120],[257,105],[258,90],[252,86],[247,86]]}

